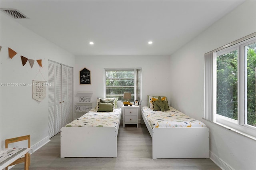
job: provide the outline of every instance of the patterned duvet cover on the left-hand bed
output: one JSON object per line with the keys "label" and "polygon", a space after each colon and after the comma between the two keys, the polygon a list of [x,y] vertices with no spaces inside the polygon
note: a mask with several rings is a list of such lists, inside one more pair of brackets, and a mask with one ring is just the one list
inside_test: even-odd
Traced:
{"label": "patterned duvet cover on the left-hand bed", "polygon": [[65,127],[118,127],[121,119],[121,108],[114,109],[113,112],[98,112],[91,109],[82,117],[67,124]]}

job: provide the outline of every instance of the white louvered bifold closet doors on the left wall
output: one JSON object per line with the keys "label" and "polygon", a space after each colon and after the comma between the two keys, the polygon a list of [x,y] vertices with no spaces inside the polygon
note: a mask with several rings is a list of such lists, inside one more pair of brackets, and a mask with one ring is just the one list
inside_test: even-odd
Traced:
{"label": "white louvered bifold closet doors on the left wall", "polygon": [[51,138],[72,122],[73,68],[48,61],[48,134]]}

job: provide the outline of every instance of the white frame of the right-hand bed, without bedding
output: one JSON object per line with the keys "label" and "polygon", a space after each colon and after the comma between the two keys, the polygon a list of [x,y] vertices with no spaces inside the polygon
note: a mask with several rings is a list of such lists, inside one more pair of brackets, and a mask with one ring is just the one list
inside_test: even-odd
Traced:
{"label": "white frame of the right-hand bed, without bedding", "polygon": [[[141,107],[142,108],[142,107]],[[209,158],[209,128],[152,128],[141,116],[152,137],[152,158]]]}

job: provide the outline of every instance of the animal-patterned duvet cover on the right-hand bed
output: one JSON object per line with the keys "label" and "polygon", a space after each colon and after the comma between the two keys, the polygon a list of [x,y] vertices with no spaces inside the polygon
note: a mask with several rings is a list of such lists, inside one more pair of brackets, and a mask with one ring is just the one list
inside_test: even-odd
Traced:
{"label": "animal-patterned duvet cover on the right-hand bed", "polygon": [[154,111],[147,106],[142,108],[142,112],[152,128],[175,128],[175,127],[206,127],[204,123],[190,118],[184,113],[169,107],[169,111]]}

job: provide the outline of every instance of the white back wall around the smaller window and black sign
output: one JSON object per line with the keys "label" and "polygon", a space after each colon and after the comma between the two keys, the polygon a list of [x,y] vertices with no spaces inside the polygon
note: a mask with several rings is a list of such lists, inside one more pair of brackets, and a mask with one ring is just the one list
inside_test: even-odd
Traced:
{"label": "white back wall around the smaller window and black sign", "polygon": [[[169,56],[77,56],[74,67],[74,93],[92,91],[93,107],[95,107],[97,97],[104,95],[104,68],[140,67],[142,100],[146,101],[147,95],[166,95],[169,98],[169,61]],[[84,67],[91,71],[91,85],[80,85],[79,71]],[[77,114],[74,113],[74,117],[78,117]]]}

